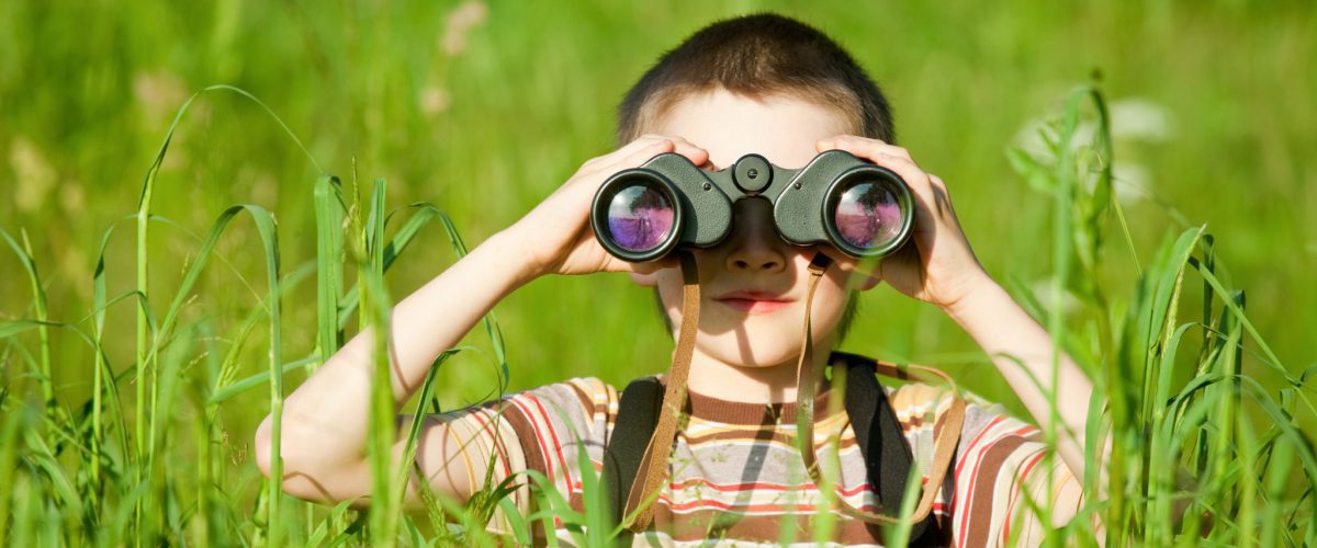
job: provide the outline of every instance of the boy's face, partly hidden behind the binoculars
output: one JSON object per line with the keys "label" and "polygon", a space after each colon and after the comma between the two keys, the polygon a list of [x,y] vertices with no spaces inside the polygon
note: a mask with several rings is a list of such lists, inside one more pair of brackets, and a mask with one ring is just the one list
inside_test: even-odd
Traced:
{"label": "boy's face, partly hidden behind the binoculars", "polygon": [[[763,100],[718,89],[673,105],[647,133],[681,137],[709,151],[706,170],[722,170],[745,154],[759,154],[784,168],[801,168],[817,154],[820,139],[851,133],[832,109],[774,96]],[[773,227],[765,198],[736,202],[731,235],[716,247],[695,250],[699,265],[699,335],[694,361],[715,359],[740,367],[795,363],[801,350],[809,264],[820,246],[795,247]],[[828,268],[814,293],[813,331],[818,348],[832,344],[848,294],[853,260],[827,248],[838,264]],[[840,267],[840,268],[839,268]],[[673,326],[681,325],[681,269],[632,275],[658,286]],[[868,289],[876,281],[856,289]]]}

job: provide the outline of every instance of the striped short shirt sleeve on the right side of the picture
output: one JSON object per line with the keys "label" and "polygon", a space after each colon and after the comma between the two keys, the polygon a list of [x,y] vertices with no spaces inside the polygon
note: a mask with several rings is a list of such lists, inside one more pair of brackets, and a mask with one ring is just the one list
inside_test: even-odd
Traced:
{"label": "striped short shirt sleeve on the right side of the picture", "polygon": [[[952,464],[952,544],[1039,545],[1048,524],[1064,524],[1083,503],[1083,485],[1048,449],[1043,432],[1001,403],[967,394],[965,422]],[[1044,514],[1046,515],[1046,514]]]}

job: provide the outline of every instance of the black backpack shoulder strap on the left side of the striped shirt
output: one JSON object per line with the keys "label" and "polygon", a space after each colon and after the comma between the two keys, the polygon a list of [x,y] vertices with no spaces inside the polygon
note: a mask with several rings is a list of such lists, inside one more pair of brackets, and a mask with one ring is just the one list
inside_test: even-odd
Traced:
{"label": "black backpack shoulder strap on the left side of the striped shirt", "polygon": [[649,438],[658,426],[662,393],[662,382],[651,376],[631,381],[618,398],[618,418],[603,449],[603,489],[614,527],[622,523],[631,485],[636,481]]}

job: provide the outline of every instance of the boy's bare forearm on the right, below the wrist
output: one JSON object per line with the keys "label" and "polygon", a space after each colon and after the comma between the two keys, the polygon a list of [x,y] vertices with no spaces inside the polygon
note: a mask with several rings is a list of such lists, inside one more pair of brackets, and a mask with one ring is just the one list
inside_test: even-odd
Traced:
{"label": "boy's bare forearm on the right, below the wrist", "polygon": [[[979,343],[1044,431],[1058,432],[1058,453],[1077,477],[1084,477],[1084,435],[1093,382],[1065,352],[1054,356],[1051,335],[997,283],[984,277],[955,306],[947,309]],[[1056,369],[1054,375],[1054,357]],[[1055,382],[1054,382],[1055,377]],[[1055,398],[1059,423],[1052,422]]]}

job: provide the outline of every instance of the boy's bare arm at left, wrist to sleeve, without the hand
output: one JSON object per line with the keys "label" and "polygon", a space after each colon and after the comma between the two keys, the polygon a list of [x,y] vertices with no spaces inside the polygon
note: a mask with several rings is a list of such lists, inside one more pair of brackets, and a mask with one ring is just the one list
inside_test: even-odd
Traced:
{"label": "boy's bare arm at left, wrist to sleeve, without the hand", "polygon": [[[392,392],[402,406],[419,388],[435,357],[454,346],[499,300],[529,280],[529,264],[506,235],[494,235],[450,268],[399,302],[392,311]],[[370,493],[366,460],[374,332],[349,340],[284,402],[281,453],[283,489],[292,495],[342,501]],[[410,419],[400,418],[406,432]],[[452,463],[461,440],[446,426],[424,424],[417,448],[421,463]],[[257,431],[255,456],[269,473],[270,418]],[[400,459],[403,442],[394,445]],[[458,457],[457,463],[461,463]],[[483,463],[482,463],[483,464]],[[466,469],[429,467],[427,477],[441,491],[465,498]],[[483,477],[483,469],[471,470]]]}

